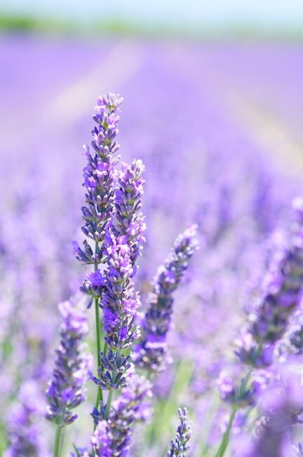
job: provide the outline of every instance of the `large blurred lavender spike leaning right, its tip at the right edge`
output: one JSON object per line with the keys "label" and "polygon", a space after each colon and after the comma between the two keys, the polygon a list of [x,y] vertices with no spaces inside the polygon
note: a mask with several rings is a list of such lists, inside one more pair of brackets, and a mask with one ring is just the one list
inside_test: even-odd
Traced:
{"label": "large blurred lavender spike leaning right, its tip at the right edge", "polygon": [[250,316],[250,327],[236,341],[236,354],[253,367],[271,364],[274,344],[283,336],[292,311],[302,299],[303,198],[295,198],[292,208],[294,221],[288,250],[274,259],[267,290]]}

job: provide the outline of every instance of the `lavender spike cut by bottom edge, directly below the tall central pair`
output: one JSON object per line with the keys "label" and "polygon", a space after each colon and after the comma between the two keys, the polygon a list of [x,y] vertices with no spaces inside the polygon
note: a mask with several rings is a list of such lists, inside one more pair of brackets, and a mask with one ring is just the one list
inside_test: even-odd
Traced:
{"label": "lavender spike cut by bottom edge, directly below the tall central pair", "polygon": [[[136,421],[146,421],[151,414],[152,385],[144,376],[130,375],[128,385],[112,404],[107,421],[102,420],[91,440],[93,456],[128,456]],[[85,454],[84,454],[85,455]]]}

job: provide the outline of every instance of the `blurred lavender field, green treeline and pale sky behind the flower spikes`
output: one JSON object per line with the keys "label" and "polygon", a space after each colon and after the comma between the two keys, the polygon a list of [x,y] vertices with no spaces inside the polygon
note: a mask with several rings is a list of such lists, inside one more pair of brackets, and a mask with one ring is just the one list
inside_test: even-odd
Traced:
{"label": "blurred lavender field, green treeline and pale sky behind the flower spikes", "polygon": [[[136,452],[161,455],[184,403],[197,424],[213,416],[203,436],[194,427],[192,455],[208,455],[224,423],[215,379],[233,357],[268,239],[302,192],[302,81],[299,0],[1,1],[1,452],[31,427],[43,429],[35,455],[50,449],[40,418],[57,303],[85,273],[71,247],[81,238],[81,145],[97,96],[110,90],[124,97],[123,161],[147,168],[142,301],[188,223],[201,244],[176,297],[175,363],[156,384],[166,425],[149,425]],[[89,412],[69,432],[79,444]]]}

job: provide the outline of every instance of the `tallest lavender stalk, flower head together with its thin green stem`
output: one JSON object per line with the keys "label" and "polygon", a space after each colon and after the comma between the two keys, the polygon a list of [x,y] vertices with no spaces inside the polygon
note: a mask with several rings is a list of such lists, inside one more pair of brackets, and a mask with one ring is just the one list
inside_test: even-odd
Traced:
{"label": "tallest lavender stalk, flower head together with its thin green stem", "polygon": [[[81,208],[82,217],[85,223],[82,231],[86,238],[93,241],[93,248],[88,240],[83,241],[81,249],[78,243],[74,242],[74,253],[76,258],[83,264],[93,266],[93,273],[83,282],[81,289],[90,296],[88,306],[94,302],[95,306],[95,335],[97,367],[102,369],[100,361],[101,351],[101,322],[100,322],[100,296],[102,294],[102,275],[100,264],[106,261],[105,255],[105,233],[106,226],[110,219],[114,205],[114,166],[119,161],[113,155],[118,151],[119,144],[115,138],[118,130],[120,111],[119,107],[123,101],[120,95],[109,93],[99,97],[95,107],[95,127],[91,130],[93,140],[91,148],[84,146],[86,151],[87,165],[83,169],[83,186],[86,188],[86,205]],[[102,390],[98,389],[96,406],[102,399]]]}

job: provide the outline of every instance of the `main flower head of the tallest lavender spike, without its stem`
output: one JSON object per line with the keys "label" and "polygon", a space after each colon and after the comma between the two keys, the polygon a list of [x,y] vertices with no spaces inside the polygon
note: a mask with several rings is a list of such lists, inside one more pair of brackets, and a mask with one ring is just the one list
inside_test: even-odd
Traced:
{"label": "main flower head of the tallest lavender spike, without its stem", "polygon": [[119,149],[115,141],[119,132],[119,107],[123,101],[120,95],[109,93],[99,97],[93,120],[97,125],[91,131],[93,140],[90,147],[85,145],[87,165],[83,169],[83,186],[86,188],[86,206],[81,208],[85,224],[82,231],[95,243],[100,243],[93,252],[86,242],[83,249],[74,242],[74,253],[79,261],[86,264],[99,264],[102,261],[102,244],[105,226],[114,205],[114,167],[119,161],[113,157]]}

